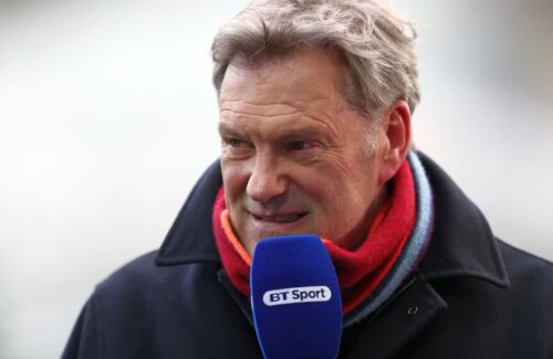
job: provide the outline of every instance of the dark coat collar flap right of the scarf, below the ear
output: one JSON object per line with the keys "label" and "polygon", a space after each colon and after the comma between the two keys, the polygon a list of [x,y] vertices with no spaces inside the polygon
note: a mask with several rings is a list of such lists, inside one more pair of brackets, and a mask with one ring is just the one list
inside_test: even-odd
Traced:
{"label": "dark coat collar flap right of the scarf, below the ear", "polygon": [[435,200],[434,232],[420,266],[425,277],[472,276],[509,286],[498,241],[483,214],[438,165],[419,157]]}

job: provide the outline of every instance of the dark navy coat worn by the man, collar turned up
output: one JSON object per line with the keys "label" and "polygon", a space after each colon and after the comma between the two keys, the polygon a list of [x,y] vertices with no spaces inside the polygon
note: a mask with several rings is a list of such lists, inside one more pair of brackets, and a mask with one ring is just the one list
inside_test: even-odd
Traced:
{"label": "dark navy coat worn by the man, collar turned up", "polygon": [[[435,228],[418,271],[343,332],[341,358],[553,358],[553,265],[497,240],[478,208],[420,155]],[[257,358],[251,310],[221,270],[211,209],[218,163],[159,251],[102,282],[63,358]]]}

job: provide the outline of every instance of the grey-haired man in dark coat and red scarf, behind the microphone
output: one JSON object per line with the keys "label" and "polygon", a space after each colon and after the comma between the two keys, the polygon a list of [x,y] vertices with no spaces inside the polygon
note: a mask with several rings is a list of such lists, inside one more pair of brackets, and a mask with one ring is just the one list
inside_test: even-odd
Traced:
{"label": "grey-haired man in dark coat and red scarf, behind the microphone", "polygon": [[253,1],[217,34],[220,162],[160,250],[101,283],[64,358],[255,358],[263,239],[316,234],[343,358],[551,358],[553,266],[410,150],[415,35],[376,0]]}

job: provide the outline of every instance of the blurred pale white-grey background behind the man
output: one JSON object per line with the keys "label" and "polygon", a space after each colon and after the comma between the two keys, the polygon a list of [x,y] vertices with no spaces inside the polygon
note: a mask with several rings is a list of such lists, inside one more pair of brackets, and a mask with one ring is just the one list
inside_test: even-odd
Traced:
{"label": "blurred pale white-grey background behind the man", "polygon": [[[0,0],[0,358],[59,357],[94,285],[159,246],[218,156],[209,46],[244,3]],[[417,147],[553,260],[553,2],[394,4]]]}

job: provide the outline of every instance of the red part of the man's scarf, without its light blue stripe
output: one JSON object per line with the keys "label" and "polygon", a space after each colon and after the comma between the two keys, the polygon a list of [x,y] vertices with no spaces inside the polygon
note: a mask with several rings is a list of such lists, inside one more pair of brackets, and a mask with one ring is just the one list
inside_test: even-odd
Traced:
{"label": "red part of the man's scarf, without its light blue stripe", "polygon": [[[336,270],[343,314],[373,293],[399,257],[416,220],[413,173],[407,161],[394,177],[392,198],[383,205],[363,244],[351,252],[323,241]],[[213,233],[232,285],[250,298],[251,257],[232,231],[221,187],[213,205]]]}

